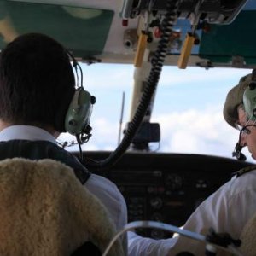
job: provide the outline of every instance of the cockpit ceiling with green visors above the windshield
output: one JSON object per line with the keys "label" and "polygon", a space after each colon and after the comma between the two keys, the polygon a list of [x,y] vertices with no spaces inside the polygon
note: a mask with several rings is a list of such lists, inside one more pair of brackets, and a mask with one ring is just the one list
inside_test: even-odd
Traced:
{"label": "cockpit ceiling with green visors above the windshield", "polygon": [[[81,61],[133,63],[140,18],[137,16],[128,20],[128,25],[123,26],[119,9],[122,1],[32,2],[0,0],[1,49],[17,35],[42,32],[60,41]],[[192,48],[189,66],[256,67],[255,17],[256,1],[248,0],[230,24],[207,24],[207,29],[202,27],[196,30],[199,44]],[[179,37],[172,42],[166,57],[167,65],[177,65],[184,38],[191,31],[191,24],[182,17],[177,20],[173,30]],[[127,38],[131,40],[129,45],[126,44]]]}

